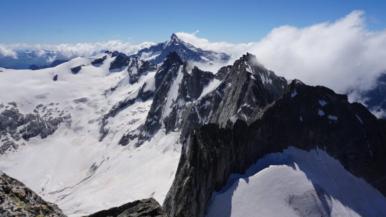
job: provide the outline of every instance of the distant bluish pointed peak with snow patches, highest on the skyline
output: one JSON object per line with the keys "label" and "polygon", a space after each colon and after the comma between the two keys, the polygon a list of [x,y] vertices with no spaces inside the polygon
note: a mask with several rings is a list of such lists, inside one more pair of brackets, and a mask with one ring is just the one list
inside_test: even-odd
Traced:
{"label": "distant bluish pointed peak with snow patches, highest on the skyline", "polygon": [[225,53],[216,53],[196,48],[195,46],[180,40],[174,33],[166,42],[139,50],[135,55],[143,60],[159,64],[163,62],[165,57],[171,52],[176,52],[182,60],[195,62],[226,62],[230,58],[230,56]]}

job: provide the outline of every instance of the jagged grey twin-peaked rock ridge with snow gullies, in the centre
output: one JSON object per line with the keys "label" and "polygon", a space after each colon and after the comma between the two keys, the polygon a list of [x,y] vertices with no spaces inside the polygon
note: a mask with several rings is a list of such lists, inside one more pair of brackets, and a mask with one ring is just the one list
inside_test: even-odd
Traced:
{"label": "jagged grey twin-peaked rock ridge with snow gullies, in the centre", "polygon": [[[218,82],[217,86],[203,94],[211,82]],[[166,133],[179,131],[182,141],[191,128],[206,123],[218,123],[221,127],[232,127],[237,119],[251,123],[264,106],[281,96],[285,85],[284,78],[258,64],[252,54],[243,55],[215,75],[197,67],[191,69],[187,61],[172,52],[155,75],[156,90],[141,129],[144,133],[129,132],[120,144],[126,145],[138,137],[141,145],[161,128]]]}

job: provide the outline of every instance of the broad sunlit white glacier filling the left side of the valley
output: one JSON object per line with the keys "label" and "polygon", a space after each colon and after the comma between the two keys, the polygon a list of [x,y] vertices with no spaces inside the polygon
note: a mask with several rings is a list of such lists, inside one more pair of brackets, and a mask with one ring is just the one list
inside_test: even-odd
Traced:
{"label": "broad sunlit white glacier filling the left side of the valley", "polygon": [[[104,55],[78,57],[35,71],[0,68],[0,104],[15,101],[19,111],[28,114],[43,103],[47,108],[57,107],[56,116],[61,111],[63,116],[71,115],[53,135],[22,140],[24,146],[0,156],[0,170],[58,204],[65,214],[93,213],[147,197],[162,203],[180,156],[178,133],[165,136],[162,130],[139,148],[134,148],[136,141],[125,147],[117,145],[124,133],[145,121],[152,99],[137,100],[110,117],[110,132],[99,142],[103,115],[129,94],[137,94],[144,83],[151,86],[155,75],[149,72],[130,85],[125,83],[126,69],[110,73],[115,57],[107,55],[99,66],[90,64]],[[71,73],[78,65],[84,66],[77,74]],[[53,81],[55,74],[57,81]],[[86,99],[74,101],[79,98]],[[55,104],[49,105],[51,102]]]}

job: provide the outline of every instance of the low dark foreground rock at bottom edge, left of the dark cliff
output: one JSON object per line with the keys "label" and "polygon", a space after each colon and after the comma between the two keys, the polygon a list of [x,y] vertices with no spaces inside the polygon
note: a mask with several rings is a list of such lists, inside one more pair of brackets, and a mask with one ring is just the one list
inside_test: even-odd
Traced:
{"label": "low dark foreground rock at bottom edge, left of the dark cliff", "polygon": [[88,217],[167,217],[162,206],[154,199],[142,199],[88,215]]}

